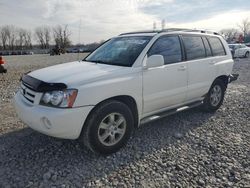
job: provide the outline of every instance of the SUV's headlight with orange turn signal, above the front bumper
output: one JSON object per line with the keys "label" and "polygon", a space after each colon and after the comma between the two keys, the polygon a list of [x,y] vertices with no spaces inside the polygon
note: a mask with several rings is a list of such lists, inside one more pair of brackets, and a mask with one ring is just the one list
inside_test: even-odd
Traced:
{"label": "SUV's headlight with orange turn signal, above the front bumper", "polygon": [[54,106],[60,108],[72,108],[76,96],[77,96],[76,89],[46,92],[43,94],[40,104],[45,106]]}

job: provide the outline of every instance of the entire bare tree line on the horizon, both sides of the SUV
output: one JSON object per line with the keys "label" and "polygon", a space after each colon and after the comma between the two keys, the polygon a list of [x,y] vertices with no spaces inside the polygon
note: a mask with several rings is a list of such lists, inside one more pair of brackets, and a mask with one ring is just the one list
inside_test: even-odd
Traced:
{"label": "entire bare tree line on the horizon, both sides of the SUV", "polygon": [[[245,18],[237,28],[222,29],[220,33],[229,43],[250,42],[250,20]],[[71,45],[70,35],[67,25],[44,25],[36,27],[33,31],[14,25],[4,25],[0,26],[0,50],[30,50],[34,46],[34,41],[40,49],[49,49],[54,44],[65,50]],[[99,43],[89,45],[96,47]]]}

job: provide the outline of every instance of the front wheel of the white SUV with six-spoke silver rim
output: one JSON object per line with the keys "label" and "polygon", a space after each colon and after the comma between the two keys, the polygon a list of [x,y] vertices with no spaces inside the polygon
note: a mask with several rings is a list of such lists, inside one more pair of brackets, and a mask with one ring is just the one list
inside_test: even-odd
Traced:
{"label": "front wheel of the white SUV with six-spoke silver rim", "polygon": [[127,143],[133,128],[130,108],[122,102],[109,100],[91,112],[79,141],[94,153],[111,154]]}

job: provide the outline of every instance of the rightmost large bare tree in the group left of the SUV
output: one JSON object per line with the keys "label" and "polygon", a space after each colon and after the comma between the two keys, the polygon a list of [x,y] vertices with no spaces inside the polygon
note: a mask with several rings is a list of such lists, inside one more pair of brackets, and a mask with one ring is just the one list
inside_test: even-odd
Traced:
{"label": "rightmost large bare tree in the group left of the SUV", "polygon": [[62,27],[61,25],[58,25],[53,28],[53,36],[54,41],[56,43],[56,46],[58,46],[61,49],[65,49],[70,45],[70,31],[68,30],[68,26],[65,25]]}

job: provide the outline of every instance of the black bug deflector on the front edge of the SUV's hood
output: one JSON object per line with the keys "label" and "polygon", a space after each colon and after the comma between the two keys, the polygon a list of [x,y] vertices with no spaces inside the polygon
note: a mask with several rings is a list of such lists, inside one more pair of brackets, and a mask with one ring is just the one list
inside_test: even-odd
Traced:
{"label": "black bug deflector on the front edge of the SUV's hood", "polygon": [[36,78],[33,78],[27,74],[24,74],[22,76],[21,81],[26,87],[36,92],[64,90],[67,88],[67,85],[64,83],[48,83],[48,82],[44,82]]}

